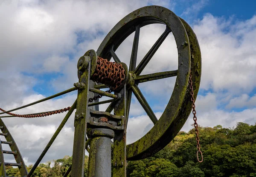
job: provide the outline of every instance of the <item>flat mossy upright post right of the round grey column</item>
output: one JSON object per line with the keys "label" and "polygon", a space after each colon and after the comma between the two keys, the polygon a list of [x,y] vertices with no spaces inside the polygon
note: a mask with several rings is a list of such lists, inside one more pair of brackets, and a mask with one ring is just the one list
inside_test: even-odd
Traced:
{"label": "flat mossy upright post right of the round grey column", "polygon": [[[125,108],[126,108],[126,85],[124,88],[119,91],[115,92],[115,94],[121,93],[122,98],[116,104],[114,108],[115,115],[126,115]],[[126,117],[124,124],[126,122]],[[121,132],[116,132],[114,137],[114,146],[113,146],[113,177],[126,177],[126,125],[124,125],[124,130]]]}

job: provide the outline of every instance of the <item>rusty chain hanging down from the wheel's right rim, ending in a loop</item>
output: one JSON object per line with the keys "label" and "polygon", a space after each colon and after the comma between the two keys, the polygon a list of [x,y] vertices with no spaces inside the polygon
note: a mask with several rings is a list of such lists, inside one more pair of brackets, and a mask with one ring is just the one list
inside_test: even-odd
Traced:
{"label": "rusty chain hanging down from the wheel's right rim, ending in a loop", "polygon": [[[199,136],[198,136],[198,134],[199,134],[199,131],[198,131],[198,124],[197,124],[197,117],[196,117],[196,111],[195,111],[195,98],[194,98],[194,90],[193,90],[193,85],[192,85],[193,83],[192,83],[192,76],[191,76],[191,70],[190,70],[190,74],[189,74],[189,88],[190,88],[190,95],[191,95],[191,101],[192,101],[192,113],[193,113],[193,120],[195,121],[195,123],[194,123],[194,127],[195,127],[195,135],[196,135],[196,137],[195,137],[195,140],[196,140],[196,142],[197,142],[197,145],[196,145],[196,147],[197,147],[197,149],[198,149],[198,151],[197,151],[197,153],[196,153],[196,155],[197,155],[197,160],[198,160],[198,162],[203,162],[203,154],[202,154],[202,152],[201,152],[201,145],[200,145],[200,143],[199,143]],[[201,155],[201,160],[199,160],[199,157],[198,157],[198,153],[200,153],[200,155]]]}

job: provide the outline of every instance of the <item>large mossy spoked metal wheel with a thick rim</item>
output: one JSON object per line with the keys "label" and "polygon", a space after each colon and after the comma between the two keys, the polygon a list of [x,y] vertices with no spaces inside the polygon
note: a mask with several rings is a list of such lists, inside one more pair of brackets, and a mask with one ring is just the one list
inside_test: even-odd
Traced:
{"label": "large mossy spoked metal wheel with a thick rim", "polygon": [[[136,67],[140,28],[153,23],[165,24],[166,30]],[[105,37],[97,50],[97,54],[102,58],[110,60],[113,57],[115,62],[121,62],[122,58],[118,57],[115,51],[134,31],[131,61],[127,63],[129,71],[126,82],[126,116],[128,119],[131,96],[134,93],[154,123],[154,127],[142,138],[127,145],[127,160],[139,160],[149,157],[163,149],[177,135],[192,110],[190,89],[188,87],[190,70],[195,98],[201,78],[201,53],[194,32],[184,20],[177,17],[169,9],[160,6],[147,6],[137,9],[120,20]],[[140,75],[170,32],[174,35],[177,45],[177,70]],[[174,90],[166,109],[160,119],[157,120],[138,86],[141,82],[172,76],[177,76]]]}

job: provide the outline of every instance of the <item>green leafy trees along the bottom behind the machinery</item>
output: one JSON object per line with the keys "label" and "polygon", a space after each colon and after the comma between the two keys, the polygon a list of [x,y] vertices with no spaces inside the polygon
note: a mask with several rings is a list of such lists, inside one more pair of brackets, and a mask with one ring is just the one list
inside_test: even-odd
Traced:
{"label": "green leafy trees along the bottom behind the machinery", "polygon": [[[199,132],[203,163],[197,162],[195,129],[191,129],[179,132],[152,157],[129,161],[127,177],[256,177],[256,124],[239,122],[233,129],[200,126]],[[87,156],[84,161],[84,177],[87,177]],[[32,177],[62,177],[71,163],[69,156],[41,163]],[[27,169],[30,171],[32,165]],[[20,176],[18,168],[10,166],[6,166],[6,173]]]}

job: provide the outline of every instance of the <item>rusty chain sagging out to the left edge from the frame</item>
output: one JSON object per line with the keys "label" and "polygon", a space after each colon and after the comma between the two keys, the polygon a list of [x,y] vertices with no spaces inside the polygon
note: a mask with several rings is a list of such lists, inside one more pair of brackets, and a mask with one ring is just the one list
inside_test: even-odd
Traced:
{"label": "rusty chain sagging out to the left edge from the frame", "polygon": [[[62,113],[62,112],[66,112],[69,111],[71,107],[65,107],[64,109],[61,110],[54,110],[54,111],[49,111],[49,112],[42,112],[39,114],[24,114],[24,115],[20,115],[20,114],[14,114],[11,112],[7,112],[6,114],[9,115],[13,115],[15,117],[19,117],[19,118],[35,118],[35,117],[44,117],[44,116],[49,116],[49,115],[53,115],[53,114],[58,114],[58,113]],[[0,108],[1,111],[6,112],[5,110],[3,110],[2,108]]]}

